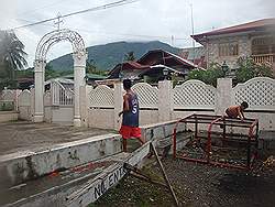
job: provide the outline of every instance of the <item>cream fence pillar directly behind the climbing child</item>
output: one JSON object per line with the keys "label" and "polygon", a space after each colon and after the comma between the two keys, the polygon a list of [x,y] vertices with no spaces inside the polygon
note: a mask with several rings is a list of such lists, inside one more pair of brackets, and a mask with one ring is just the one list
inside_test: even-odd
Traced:
{"label": "cream fence pillar directly behind the climbing child", "polygon": [[231,78],[218,78],[217,79],[217,102],[216,102],[216,115],[223,115],[226,109],[233,105],[234,97],[232,90]]}

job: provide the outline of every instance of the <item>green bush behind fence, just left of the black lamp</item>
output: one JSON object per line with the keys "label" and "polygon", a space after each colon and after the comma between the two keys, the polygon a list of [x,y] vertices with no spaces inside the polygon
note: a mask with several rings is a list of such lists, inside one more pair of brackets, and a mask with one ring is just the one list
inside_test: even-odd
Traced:
{"label": "green bush behind fence, just left of the black lamp", "polygon": [[212,63],[207,70],[194,69],[188,74],[188,79],[199,79],[208,85],[217,86],[217,78],[224,77],[221,66]]}

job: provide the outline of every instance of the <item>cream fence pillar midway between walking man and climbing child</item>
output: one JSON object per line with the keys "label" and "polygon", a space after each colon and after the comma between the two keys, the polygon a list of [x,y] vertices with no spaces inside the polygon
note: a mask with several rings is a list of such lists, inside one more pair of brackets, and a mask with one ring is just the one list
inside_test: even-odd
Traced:
{"label": "cream fence pillar midway between walking man and climbing child", "polygon": [[173,84],[170,80],[158,81],[158,121],[173,118]]}

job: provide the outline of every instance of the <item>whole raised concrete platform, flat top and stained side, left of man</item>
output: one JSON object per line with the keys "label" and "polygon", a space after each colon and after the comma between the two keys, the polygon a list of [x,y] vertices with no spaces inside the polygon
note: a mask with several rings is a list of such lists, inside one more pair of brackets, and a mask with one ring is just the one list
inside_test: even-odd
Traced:
{"label": "whole raised concrete platform, flat top and stained side, left of man", "polygon": [[0,131],[0,185],[4,187],[121,152],[121,135],[110,130],[9,122],[1,123]]}

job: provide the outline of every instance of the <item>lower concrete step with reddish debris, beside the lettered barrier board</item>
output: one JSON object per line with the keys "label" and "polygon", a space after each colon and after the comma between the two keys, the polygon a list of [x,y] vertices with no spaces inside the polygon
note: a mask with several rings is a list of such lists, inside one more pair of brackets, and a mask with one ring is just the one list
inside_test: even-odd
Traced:
{"label": "lower concrete step with reddish debris, beside the lettered barrier board", "polygon": [[0,187],[0,206],[56,206],[56,203],[65,201],[63,195],[72,194],[124,156],[125,153],[119,153],[112,157],[89,162],[10,188]]}

